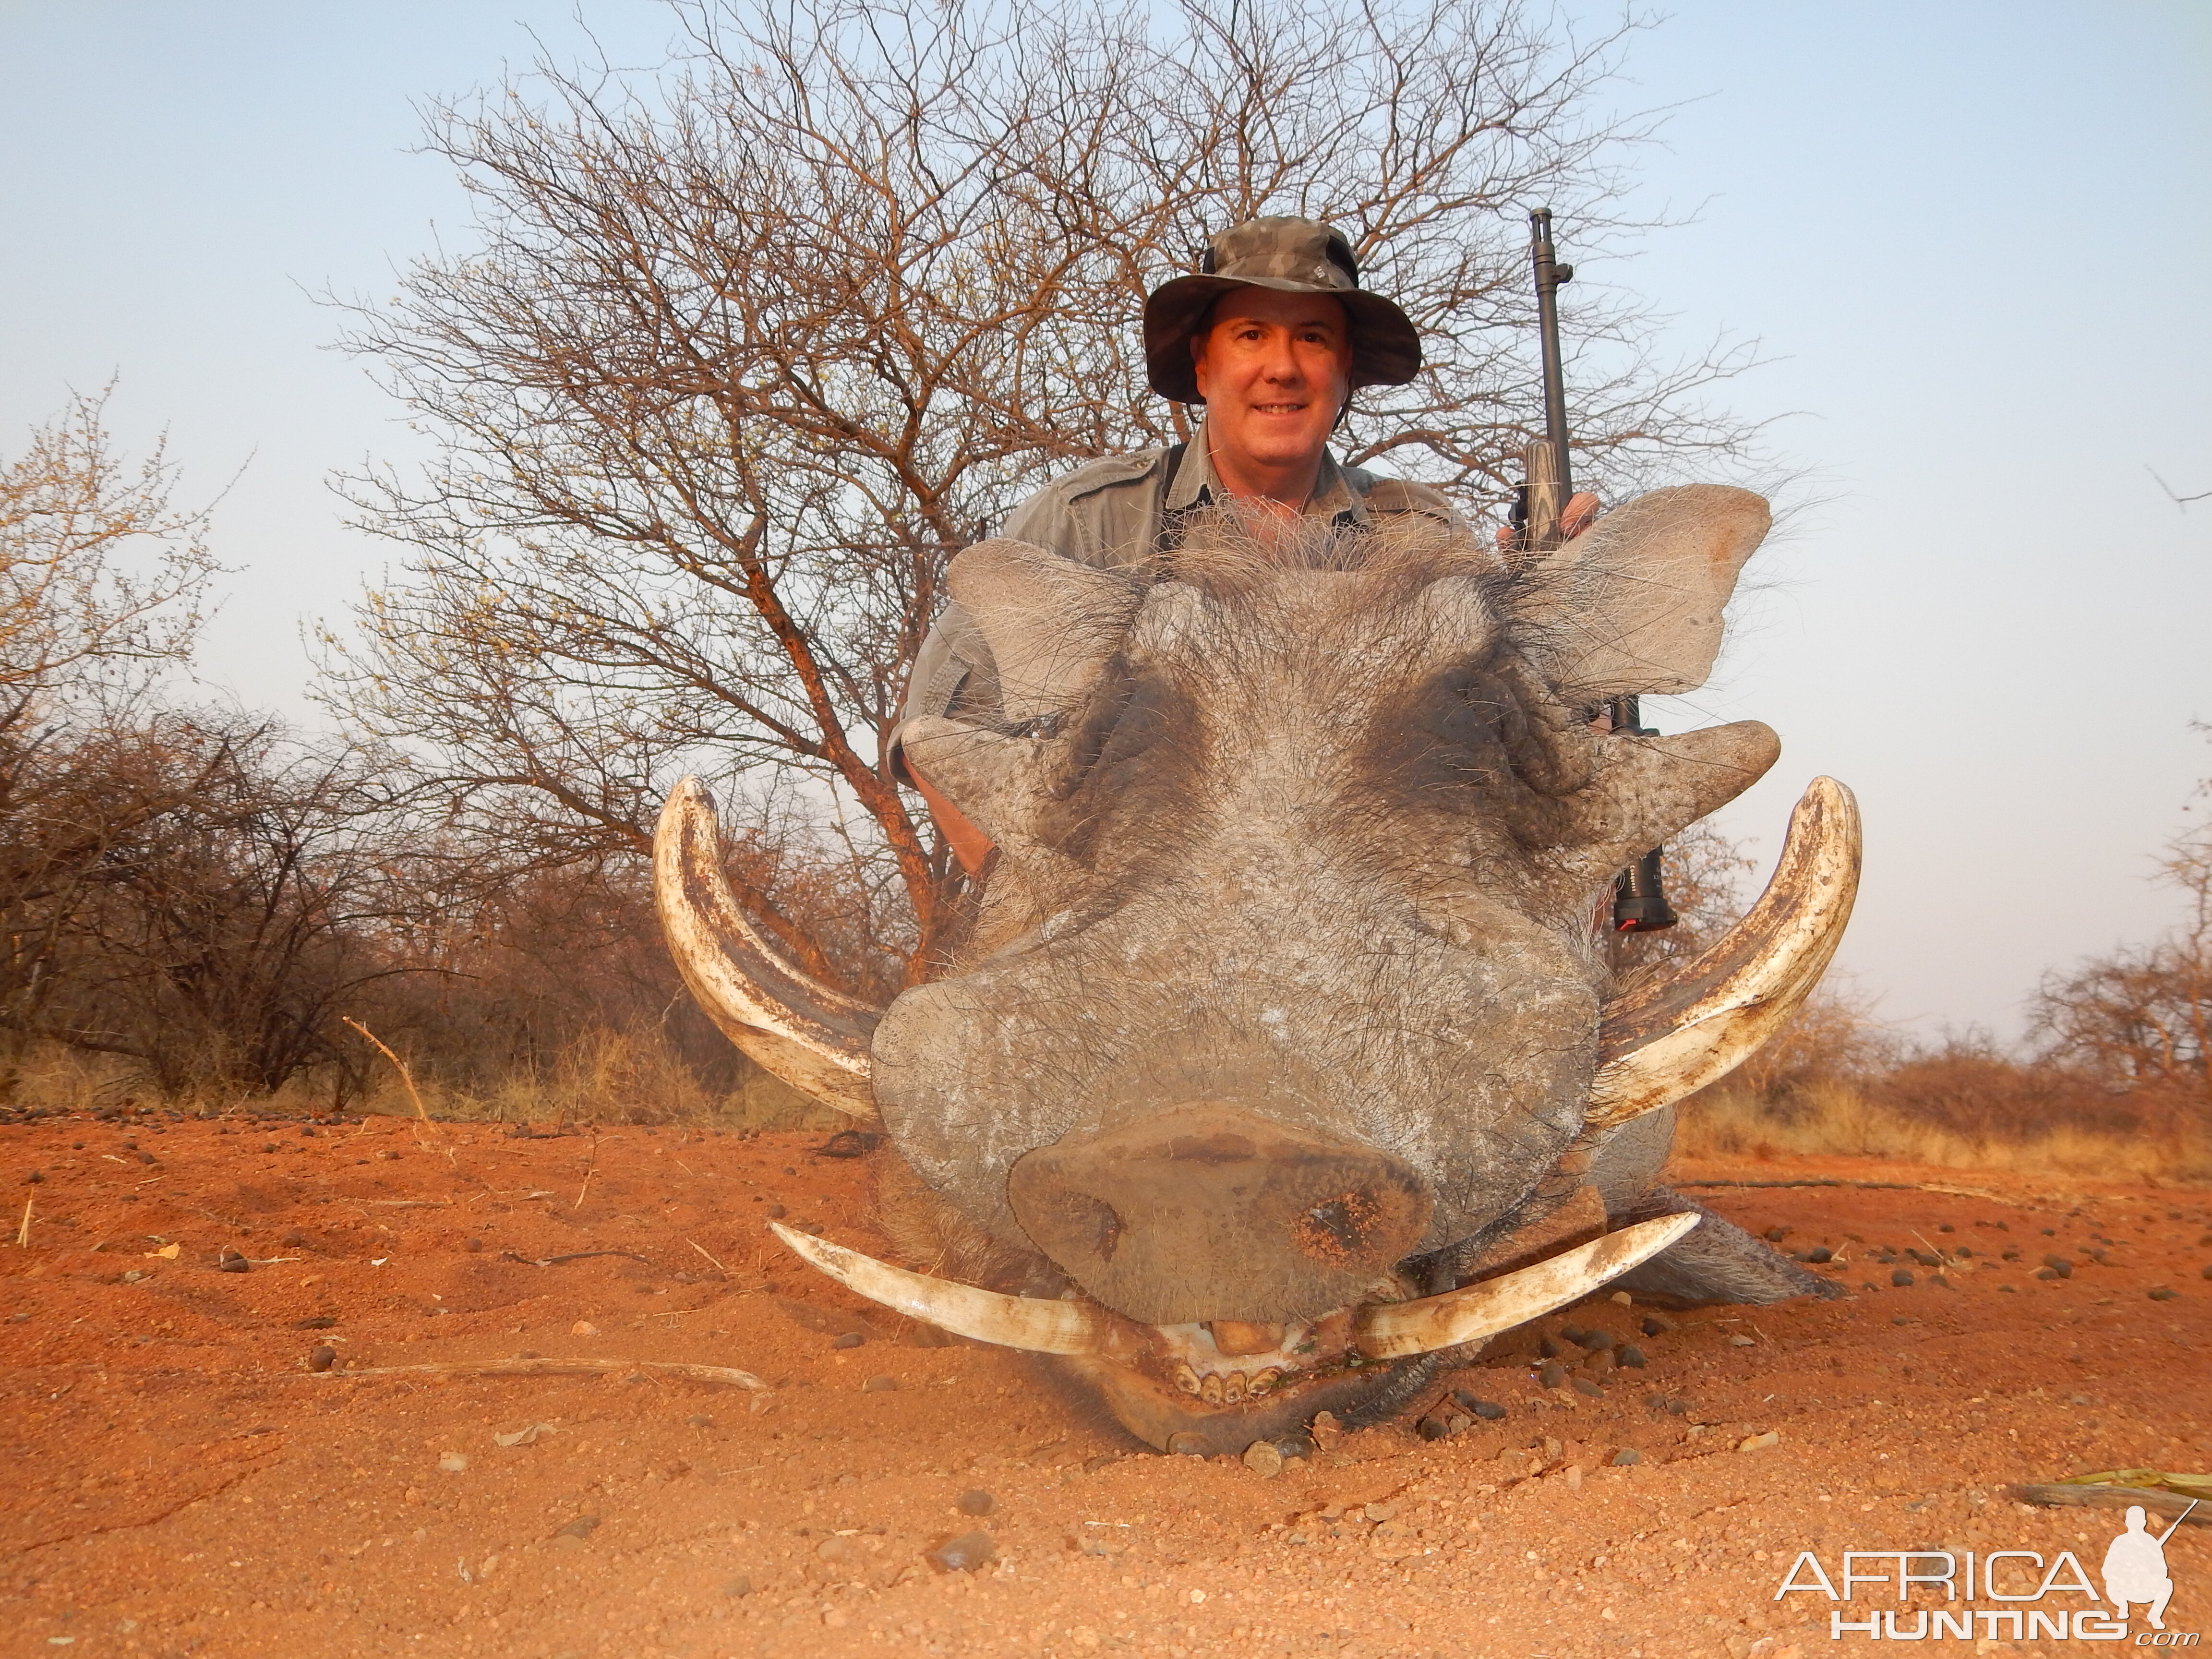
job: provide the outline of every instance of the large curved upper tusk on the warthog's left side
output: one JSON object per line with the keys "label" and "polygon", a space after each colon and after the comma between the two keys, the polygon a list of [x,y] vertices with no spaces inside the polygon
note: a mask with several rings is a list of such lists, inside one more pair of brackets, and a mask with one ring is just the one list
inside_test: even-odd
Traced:
{"label": "large curved upper tusk on the warthog's left side", "polygon": [[714,803],[699,779],[668,792],[653,832],[653,902],[684,984],[721,1033],[792,1088],[874,1121],[867,1040],[880,1009],[785,962],[721,872]]}

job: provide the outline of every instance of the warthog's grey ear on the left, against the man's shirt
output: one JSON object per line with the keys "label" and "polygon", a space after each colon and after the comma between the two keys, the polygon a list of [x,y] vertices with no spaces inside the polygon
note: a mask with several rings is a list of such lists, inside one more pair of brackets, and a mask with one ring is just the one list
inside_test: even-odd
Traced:
{"label": "warthog's grey ear on the left, against the man's shirt", "polygon": [[1006,540],[956,553],[945,586],[991,646],[1011,723],[1082,701],[1139,599],[1124,575]]}

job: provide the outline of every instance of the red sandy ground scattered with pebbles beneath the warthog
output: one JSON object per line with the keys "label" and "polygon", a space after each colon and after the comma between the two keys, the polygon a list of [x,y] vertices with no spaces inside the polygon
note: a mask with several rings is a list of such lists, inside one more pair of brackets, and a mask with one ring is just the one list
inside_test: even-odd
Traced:
{"label": "red sandy ground scattered with pebbles beneath the warthog", "polygon": [[[2073,1548],[2095,1575],[2119,1517],[2006,1482],[2212,1464],[2197,1190],[1681,1170],[1978,1192],[1699,1188],[1790,1248],[1845,1250],[1854,1294],[1683,1314],[1604,1398],[1540,1389],[1524,1332],[1451,1380],[1502,1422],[1369,1429],[1265,1480],[1133,1451],[1013,1354],[863,1318],[763,1228],[781,1203],[878,1243],[860,1164],[810,1155],[821,1137],[155,1121],[0,1126],[0,1179],[33,1199],[29,1248],[0,1241],[0,1655],[1787,1659],[1843,1650],[1823,1597],[1774,1599],[1803,1548],[1832,1573],[1845,1548]],[[1966,1245],[1971,1270],[1896,1290],[1882,1245]],[[252,1270],[217,1272],[226,1248]],[[641,1261],[535,1265],[586,1250]],[[2037,1281],[2046,1252],[2073,1279]],[[1597,1298],[1544,1332],[1641,1316]],[[845,1329],[872,1336],[836,1349]],[[325,1340],[341,1363],[314,1376]],[[768,1389],[347,1376],[520,1352]],[[495,1444],[526,1425],[549,1427]],[[1613,1467],[1624,1447],[1644,1460]],[[987,1517],[958,1511],[969,1489]],[[995,1562],[929,1566],[978,1528]],[[2212,1533],[2183,1526],[2168,1559],[2166,1624],[2212,1626]]]}

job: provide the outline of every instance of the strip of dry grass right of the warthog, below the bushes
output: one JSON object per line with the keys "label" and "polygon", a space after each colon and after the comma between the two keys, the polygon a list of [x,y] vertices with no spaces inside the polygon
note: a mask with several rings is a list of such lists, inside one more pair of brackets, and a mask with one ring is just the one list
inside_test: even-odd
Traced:
{"label": "strip of dry grass right of the warthog, below the bushes", "polygon": [[2166,1186],[2212,1181],[2212,1135],[2185,1121],[2044,1119],[2024,1128],[2035,1119],[1991,1113],[1938,1119],[1880,1099],[1880,1082],[1820,1079],[1774,1102],[1723,1082],[1683,1104],[1674,1150],[1688,1157],[1874,1157]]}

